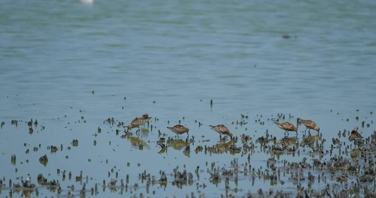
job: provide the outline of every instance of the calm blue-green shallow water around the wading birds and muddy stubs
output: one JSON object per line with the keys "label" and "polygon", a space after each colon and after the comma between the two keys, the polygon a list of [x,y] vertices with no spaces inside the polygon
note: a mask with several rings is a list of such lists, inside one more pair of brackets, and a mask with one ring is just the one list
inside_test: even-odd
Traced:
{"label": "calm blue-green shallow water around the wading birds and muddy stubs", "polygon": [[[209,182],[206,170],[211,162],[231,169],[234,158],[245,164],[246,154],[210,155],[195,153],[194,149],[218,143],[218,134],[209,129],[209,124],[227,125],[238,136],[238,147],[242,146],[242,134],[251,136],[249,144],[265,136],[266,130],[280,140],[283,131],[267,121],[277,113],[285,114],[285,120],[294,124],[298,117],[316,121],[321,128],[320,141],[326,140],[325,149],[330,148],[332,138],[338,137],[338,131],[354,126],[360,127],[364,137],[370,136],[375,130],[370,112],[376,112],[375,10],[372,0],[96,0],[93,5],[74,0],[2,0],[0,122],[5,125],[0,129],[0,177],[5,177],[7,184],[8,179],[17,183],[17,177],[30,174],[37,183],[37,175],[42,173],[49,180],[59,180],[64,196],[69,191],[66,187],[72,184],[72,194],[79,194],[82,184],[74,177],[81,170],[89,178],[87,189],[95,183],[100,186],[98,197],[120,197],[120,189],[102,191],[103,180],[108,183],[116,171],[118,185],[126,174],[129,185],[138,183],[139,189],[123,192],[126,195],[183,197],[194,192],[196,196],[203,193],[205,197],[218,197],[244,196],[259,188],[295,191],[286,177],[281,178],[284,185],[272,186],[262,179],[252,184],[249,175],[240,174],[237,184],[230,179],[231,190],[226,192],[224,179],[216,186]],[[104,124],[109,117],[128,124],[145,112],[153,117],[153,129],[140,133],[141,143],[135,134],[121,138],[124,128],[118,128],[116,135],[116,124]],[[249,118],[242,119],[241,114]],[[39,124],[30,135],[25,121],[31,118]],[[264,125],[255,122],[259,118]],[[11,125],[13,119],[23,122]],[[179,120],[195,137],[190,155],[183,153],[185,148],[173,147],[167,153],[158,153],[158,130],[166,134],[166,139],[174,137],[166,127]],[[248,123],[232,124],[241,120]],[[370,127],[362,128],[362,121]],[[102,132],[94,136],[98,127]],[[299,143],[303,131],[301,127]],[[79,141],[77,147],[70,145],[73,139]],[[341,142],[352,144],[346,138]],[[41,148],[33,151],[39,144]],[[140,150],[137,144],[143,148]],[[50,145],[59,151],[51,153],[47,149]],[[251,167],[264,170],[272,155],[255,145]],[[26,154],[26,149],[30,153]],[[279,160],[311,160],[303,149],[294,156],[282,154]],[[12,154],[16,155],[15,165],[9,163]],[[46,166],[39,163],[43,154],[49,158]],[[328,158],[330,155],[323,157]],[[114,173],[108,177],[114,166]],[[177,188],[172,184],[174,177],[169,174],[177,166],[193,173],[192,185]],[[199,179],[194,174],[196,166],[202,170]],[[72,179],[62,181],[57,169],[71,171]],[[166,188],[152,185],[146,192],[146,184],[138,179],[144,170],[156,177],[164,170],[168,174]],[[196,183],[205,183],[206,188],[197,192]],[[316,181],[311,188],[325,185]],[[38,186],[38,190],[39,196],[57,195],[45,187]],[[8,191],[2,189],[0,197],[8,196]]]}

